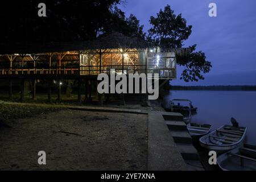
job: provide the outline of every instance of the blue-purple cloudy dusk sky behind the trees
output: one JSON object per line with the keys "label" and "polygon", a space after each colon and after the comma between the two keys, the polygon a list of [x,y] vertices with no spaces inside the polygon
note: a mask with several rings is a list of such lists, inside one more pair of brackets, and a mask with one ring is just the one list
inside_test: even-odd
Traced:
{"label": "blue-purple cloudy dusk sky behind the trees", "polygon": [[[208,15],[210,2],[217,4],[217,17]],[[213,65],[205,80],[186,83],[178,77],[173,85],[256,85],[255,0],[127,0],[119,7],[137,16],[147,32],[150,16],[167,4],[193,26],[184,47],[197,44]],[[182,70],[177,68],[178,75]]]}

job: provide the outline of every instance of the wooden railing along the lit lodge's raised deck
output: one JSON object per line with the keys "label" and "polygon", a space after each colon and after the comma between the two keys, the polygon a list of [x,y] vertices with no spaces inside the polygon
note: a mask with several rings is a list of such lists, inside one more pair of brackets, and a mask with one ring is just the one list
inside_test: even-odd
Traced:
{"label": "wooden railing along the lit lodge's raised deck", "polygon": [[91,66],[65,66],[65,67],[0,67],[1,75],[99,75],[110,73],[115,69],[116,73],[158,73],[161,78],[176,78],[175,68],[146,69],[146,65],[91,65]]}

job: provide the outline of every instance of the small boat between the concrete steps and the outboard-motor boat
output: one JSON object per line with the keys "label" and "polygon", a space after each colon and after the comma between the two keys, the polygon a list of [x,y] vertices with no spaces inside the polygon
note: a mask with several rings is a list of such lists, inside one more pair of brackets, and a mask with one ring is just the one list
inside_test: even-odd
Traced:
{"label": "small boat between the concrete steps and the outboard-motor boat", "polygon": [[208,124],[188,123],[187,125],[188,133],[191,135],[193,140],[198,140],[204,135],[207,135],[210,133],[211,128],[212,125]]}

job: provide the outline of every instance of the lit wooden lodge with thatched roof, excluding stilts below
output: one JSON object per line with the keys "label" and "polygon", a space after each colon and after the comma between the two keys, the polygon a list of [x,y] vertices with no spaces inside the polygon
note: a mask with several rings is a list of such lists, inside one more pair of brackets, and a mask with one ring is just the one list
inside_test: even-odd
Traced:
{"label": "lit wooden lodge with thatched roof, excluding stilts below", "polygon": [[[176,53],[161,52],[152,43],[114,33],[96,40],[72,43],[0,45],[0,75],[79,75],[159,73],[176,78]],[[1,76],[0,76],[1,77]]]}

